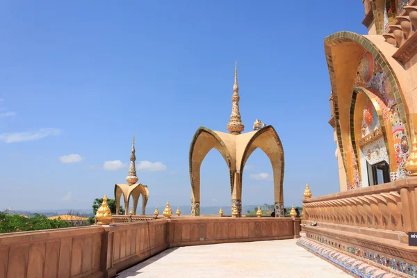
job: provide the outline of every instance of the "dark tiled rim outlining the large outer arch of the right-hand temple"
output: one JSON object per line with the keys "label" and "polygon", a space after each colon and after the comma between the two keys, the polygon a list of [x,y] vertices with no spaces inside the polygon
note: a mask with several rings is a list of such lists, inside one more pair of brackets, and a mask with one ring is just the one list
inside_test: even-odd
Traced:
{"label": "dark tiled rim outlining the large outer arch of the right-hand temple", "polygon": [[[376,11],[377,0],[373,0],[373,10],[374,15]],[[378,17],[375,17],[378,18]],[[377,21],[375,21],[376,24]],[[359,46],[363,47],[366,51],[369,51],[370,54],[373,55],[374,59],[378,61],[379,65],[382,67],[384,74],[387,76],[387,80],[391,85],[391,89],[393,95],[395,97],[395,101],[398,106],[398,110],[400,113],[400,118],[402,124],[404,125],[404,130],[407,135],[407,138],[411,138],[409,132],[409,121],[407,120],[407,115],[409,115],[408,107],[404,101],[404,95],[402,94],[402,89],[400,86],[400,82],[398,81],[397,76],[395,75],[391,65],[389,65],[388,60],[386,60],[384,54],[377,48],[373,42],[368,40],[368,38],[364,37],[363,35],[358,35],[357,33],[349,32],[349,31],[341,31],[329,35],[325,38],[325,55],[327,60],[327,67],[329,68],[329,76],[330,76],[330,83],[332,85],[332,92],[333,92],[333,113],[334,113],[334,120],[336,124],[336,133],[337,133],[337,143],[339,150],[341,152],[343,166],[345,167],[346,177],[347,174],[347,165],[346,165],[346,156],[343,149],[343,138],[341,134],[341,124],[340,124],[340,117],[338,112],[338,92],[337,92],[337,84],[336,84],[336,76],[335,76],[335,69],[333,64],[333,57],[332,57],[332,47],[343,44],[345,42],[353,42],[358,44]],[[353,90],[352,85],[352,90]]]}

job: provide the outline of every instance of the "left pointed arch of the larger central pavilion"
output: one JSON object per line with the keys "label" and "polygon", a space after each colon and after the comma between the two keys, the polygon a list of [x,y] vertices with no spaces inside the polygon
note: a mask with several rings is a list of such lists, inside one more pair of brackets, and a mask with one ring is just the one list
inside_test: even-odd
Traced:
{"label": "left pointed arch of the larger central pavilion", "polygon": [[217,149],[229,167],[230,188],[233,192],[234,185],[234,161],[229,154],[227,146],[215,131],[200,126],[194,134],[190,145],[189,167],[191,181],[191,214],[199,215],[199,189],[200,189],[200,167],[208,152]]}

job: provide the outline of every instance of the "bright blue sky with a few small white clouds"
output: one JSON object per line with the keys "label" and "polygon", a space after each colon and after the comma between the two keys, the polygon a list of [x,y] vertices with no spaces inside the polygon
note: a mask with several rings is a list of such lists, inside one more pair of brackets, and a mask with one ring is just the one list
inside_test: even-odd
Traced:
{"label": "bright blue sky with a few small white clouds", "polygon": [[[367,33],[361,1],[343,2],[3,1],[0,209],[114,197],[133,131],[149,206],[190,204],[190,142],[199,126],[227,132],[235,60],[245,131],[259,118],[284,145],[285,206],[301,204],[306,183],[315,196],[337,192],[323,39]],[[243,204],[272,204],[267,156],[247,163]],[[202,206],[230,204],[215,150],[201,186]]]}

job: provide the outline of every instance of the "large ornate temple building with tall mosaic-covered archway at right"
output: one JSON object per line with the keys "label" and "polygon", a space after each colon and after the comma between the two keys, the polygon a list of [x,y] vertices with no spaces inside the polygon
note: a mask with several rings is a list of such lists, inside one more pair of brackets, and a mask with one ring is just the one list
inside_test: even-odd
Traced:
{"label": "large ornate temple building with tall mosaic-covered archway at right", "polygon": [[341,191],[406,177],[417,124],[417,6],[363,3],[368,35],[325,38]]}

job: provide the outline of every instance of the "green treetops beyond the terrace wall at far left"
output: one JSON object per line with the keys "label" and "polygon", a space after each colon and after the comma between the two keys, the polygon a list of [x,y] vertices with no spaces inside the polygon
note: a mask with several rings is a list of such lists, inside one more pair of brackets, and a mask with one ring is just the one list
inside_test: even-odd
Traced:
{"label": "green treetops beyond the terrace wall at far left", "polygon": [[33,218],[26,218],[22,215],[8,215],[0,212],[0,234],[67,227],[72,227],[70,222],[48,219],[45,215],[38,213],[35,213]]}

